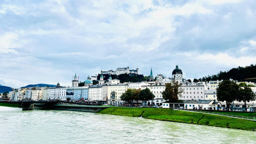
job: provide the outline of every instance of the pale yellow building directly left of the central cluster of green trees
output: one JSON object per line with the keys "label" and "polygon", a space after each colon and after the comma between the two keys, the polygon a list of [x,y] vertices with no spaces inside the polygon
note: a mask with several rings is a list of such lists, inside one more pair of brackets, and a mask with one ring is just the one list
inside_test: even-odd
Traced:
{"label": "pale yellow building directly left of the central cluster of green trees", "polygon": [[[108,85],[108,104],[119,105],[123,103],[120,96],[128,89],[128,84]],[[113,94],[112,97],[111,93]]]}

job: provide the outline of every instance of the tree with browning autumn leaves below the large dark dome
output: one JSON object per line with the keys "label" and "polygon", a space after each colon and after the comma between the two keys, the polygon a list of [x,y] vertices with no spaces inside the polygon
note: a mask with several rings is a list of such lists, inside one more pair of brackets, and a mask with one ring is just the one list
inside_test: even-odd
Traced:
{"label": "tree with browning autumn leaves below the large dark dome", "polygon": [[162,92],[163,99],[170,100],[172,102],[177,101],[179,96],[182,96],[182,92],[183,89],[181,88],[181,85],[178,82],[172,81],[165,85],[165,90]]}

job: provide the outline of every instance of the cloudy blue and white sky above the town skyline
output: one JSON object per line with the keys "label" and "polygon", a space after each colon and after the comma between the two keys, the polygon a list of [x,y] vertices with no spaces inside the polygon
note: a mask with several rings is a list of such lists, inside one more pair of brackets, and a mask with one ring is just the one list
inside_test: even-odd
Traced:
{"label": "cloudy blue and white sky above the town skyline", "polygon": [[13,88],[127,66],[201,78],[255,56],[255,0],[0,1],[0,84]]}

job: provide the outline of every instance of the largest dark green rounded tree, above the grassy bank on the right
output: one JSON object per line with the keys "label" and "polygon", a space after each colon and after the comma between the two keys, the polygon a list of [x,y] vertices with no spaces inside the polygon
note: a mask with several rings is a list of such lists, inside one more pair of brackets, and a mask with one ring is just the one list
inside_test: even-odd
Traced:
{"label": "largest dark green rounded tree, above the grassy bank on the right", "polygon": [[234,81],[224,80],[218,86],[217,100],[226,101],[227,110],[229,111],[230,104],[238,98],[239,86]]}

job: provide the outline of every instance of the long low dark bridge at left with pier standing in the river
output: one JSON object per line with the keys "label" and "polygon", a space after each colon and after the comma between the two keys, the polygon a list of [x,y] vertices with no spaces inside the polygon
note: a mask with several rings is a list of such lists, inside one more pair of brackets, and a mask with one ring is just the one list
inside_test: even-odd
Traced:
{"label": "long low dark bridge at left with pier standing in the river", "polygon": [[20,104],[22,110],[47,109],[97,112],[110,107],[64,101],[0,101],[0,103]]}

